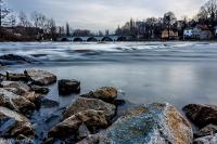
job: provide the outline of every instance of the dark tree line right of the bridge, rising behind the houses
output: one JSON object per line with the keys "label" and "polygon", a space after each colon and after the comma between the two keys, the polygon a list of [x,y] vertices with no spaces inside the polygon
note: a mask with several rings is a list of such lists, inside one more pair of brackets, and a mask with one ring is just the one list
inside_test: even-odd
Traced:
{"label": "dark tree line right of the bridge, rising behind the houses", "polygon": [[[183,30],[196,25],[205,25],[215,36],[215,27],[217,26],[217,0],[208,0],[205,2],[199,13],[193,18],[182,16],[178,19],[174,12],[167,12],[163,17],[148,17],[144,21],[135,22],[132,18],[124,26],[117,27],[116,35],[143,36],[143,39],[154,39],[161,36],[162,30],[178,31],[179,36],[183,36]],[[169,38],[169,36],[168,36]]]}

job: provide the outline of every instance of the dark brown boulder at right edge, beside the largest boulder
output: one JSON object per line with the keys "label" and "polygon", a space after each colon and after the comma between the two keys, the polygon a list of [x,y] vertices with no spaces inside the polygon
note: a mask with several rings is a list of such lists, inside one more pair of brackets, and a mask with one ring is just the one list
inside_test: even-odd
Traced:
{"label": "dark brown boulder at right edge, beside the largest boulder", "polygon": [[183,112],[200,128],[209,123],[217,125],[217,106],[190,104],[183,107]]}

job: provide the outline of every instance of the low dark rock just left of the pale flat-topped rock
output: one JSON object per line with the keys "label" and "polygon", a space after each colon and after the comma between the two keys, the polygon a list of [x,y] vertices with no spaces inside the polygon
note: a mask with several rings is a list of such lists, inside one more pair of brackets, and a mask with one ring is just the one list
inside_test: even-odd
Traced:
{"label": "low dark rock just left of the pale flat-topped rock", "polygon": [[7,80],[10,81],[27,81],[27,77],[24,74],[13,74],[13,73],[9,73],[7,71]]}

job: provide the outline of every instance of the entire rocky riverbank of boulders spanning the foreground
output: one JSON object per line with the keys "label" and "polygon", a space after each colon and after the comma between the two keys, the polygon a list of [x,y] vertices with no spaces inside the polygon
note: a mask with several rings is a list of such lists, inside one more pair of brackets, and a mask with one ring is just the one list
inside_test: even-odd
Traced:
{"label": "entire rocky riverbank of boulders spanning the foreground", "polygon": [[[80,81],[58,80],[54,74],[40,69],[0,76],[0,142],[217,143],[217,106],[187,105],[183,112],[188,119],[168,103],[143,104],[119,113],[125,101],[118,100],[118,90],[113,87],[80,94],[60,114],[47,136],[38,140],[35,128],[40,126],[30,122],[31,114],[41,106],[59,105],[46,99],[49,86],[58,81],[60,96],[65,96],[79,93]],[[193,132],[192,125],[199,130]]]}

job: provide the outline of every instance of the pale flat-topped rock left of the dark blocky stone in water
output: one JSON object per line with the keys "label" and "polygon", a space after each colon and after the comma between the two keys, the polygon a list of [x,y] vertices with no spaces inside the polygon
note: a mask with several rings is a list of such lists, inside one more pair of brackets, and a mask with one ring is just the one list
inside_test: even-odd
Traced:
{"label": "pale flat-topped rock left of the dark blocky stone in water", "polygon": [[56,81],[56,76],[40,69],[28,69],[25,75],[37,86],[49,86]]}

